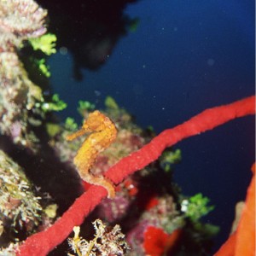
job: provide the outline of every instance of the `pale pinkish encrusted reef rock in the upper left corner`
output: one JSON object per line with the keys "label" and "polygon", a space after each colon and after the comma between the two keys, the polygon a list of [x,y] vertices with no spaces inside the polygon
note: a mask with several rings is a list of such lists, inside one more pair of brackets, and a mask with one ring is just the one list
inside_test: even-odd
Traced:
{"label": "pale pinkish encrusted reef rock in the upper left corner", "polygon": [[24,146],[35,140],[28,119],[35,103],[42,100],[42,92],[28,78],[18,50],[27,39],[46,32],[46,15],[46,10],[30,0],[0,2],[0,131]]}

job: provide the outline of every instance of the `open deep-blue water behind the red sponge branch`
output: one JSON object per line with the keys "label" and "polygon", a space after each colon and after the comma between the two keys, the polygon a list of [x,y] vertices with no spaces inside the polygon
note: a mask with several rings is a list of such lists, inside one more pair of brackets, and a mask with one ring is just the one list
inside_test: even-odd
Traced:
{"label": "open deep-blue water behind the red sponge branch", "polygon": [[[125,13],[139,18],[100,69],[73,79],[72,55],[51,57],[51,82],[75,116],[77,102],[103,107],[105,96],[160,131],[205,108],[254,94],[254,1],[144,0]],[[205,221],[221,227],[217,249],[230,232],[237,201],[244,199],[254,160],[254,119],[237,119],[178,143],[183,161],[175,180],[183,193],[201,192],[216,206]]]}

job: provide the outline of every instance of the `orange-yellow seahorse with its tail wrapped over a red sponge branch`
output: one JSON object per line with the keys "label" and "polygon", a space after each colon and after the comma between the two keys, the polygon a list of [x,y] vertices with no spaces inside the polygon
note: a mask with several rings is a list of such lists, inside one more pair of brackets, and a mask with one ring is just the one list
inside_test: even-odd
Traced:
{"label": "orange-yellow seahorse with its tail wrapped over a red sponge branch", "polygon": [[90,168],[94,164],[96,157],[103,150],[113,143],[117,136],[117,129],[113,121],[98,110],[89,114],[88,119],[79,131],[67,136],[67,141],[90,133],[85,138],[81,148],[73,159],[80,177],[87,183],[101,185],[108,190],[108,197],[113,198],[115,195],[113,184],[104,177],[96,177],[90,173]]}

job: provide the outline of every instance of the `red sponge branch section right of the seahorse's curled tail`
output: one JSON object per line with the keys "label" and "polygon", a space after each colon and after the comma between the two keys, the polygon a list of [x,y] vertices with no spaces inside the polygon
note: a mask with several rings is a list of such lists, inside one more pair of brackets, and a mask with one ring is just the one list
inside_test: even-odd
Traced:
{"label": "red sponge branch section right of the seahorse's curled tail", "polygon": [[182,125],[162,131],[160,135],[154,137],[143,148],[119,160],[116,165],[110,167],[105,176],[116,184],[120,183],[131,173],[141,170],[154,160],[157,160],[165,148],[173,146],[184,138],[212,130],[212,128],[222,125],[231,119],[253,113],[255,113],[255,96],[250,96],[228,105],[208,108]]}

